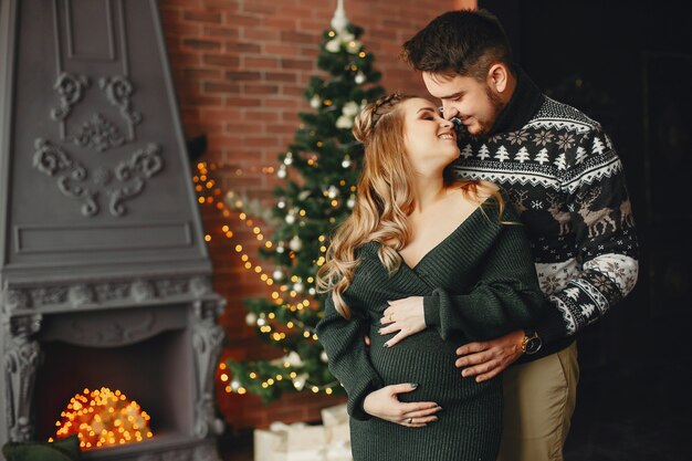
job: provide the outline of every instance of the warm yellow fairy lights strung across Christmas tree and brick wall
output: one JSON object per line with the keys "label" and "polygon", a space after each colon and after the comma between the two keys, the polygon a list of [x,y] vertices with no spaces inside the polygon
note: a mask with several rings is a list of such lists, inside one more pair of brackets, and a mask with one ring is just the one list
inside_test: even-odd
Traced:
{"label": "warm yellow fairy lights strung across Christmas tree and brick wall", "polygon": [[[289,156],[287,158],[291,158],[291,156]],[[290,160],[287,164],[290,165]],[[285,165],[286,163],[284,161],[281,167],[285,168]],[[282,175],[282,171],[285,171],[285,169],[281,167],[277,170],[274,167],[263,167],[261,171],[265,175],[276,174],[280,178],[285,177],[284,175]],[[235,198],[232,192],[228,192],[226,195],[222,193],[221,188],[218,187],[217,181],[212,177],[212,175],[214,174],[214,171],[223,168],[226,168],[223,164],[198,163],[197,175],[192,177],[195,190],[198,195],[198,202],[203,206],[214,207],[224,218],[224,221],[216,229],[219,231],[219,235],[221,238],[237,241],[237,233],[233,232],[232,229],[238,229],[239,226],[244,226],[252,229],[254,238],[259,242],[262,242],[264,248],[266,248],[268,250],[274,249],[274,251],[277,252],[286,251],[283,242],[276,244],[265,237],[265,232],[262,230],[262,228],[258,226],[245,211],[243,211],[244,203],[241,199]],[[235,168],[233,172],[237,176],[242,176],[244,174],[241,168]],[[298,210],[297,214],[300,217],[304,217],[305,210]],[[206,242],[211,242],[212,239],[212,233],[207,233],[205,235]],[[319,235],[318,240],[321,243],[325,243],[326,238],[325,235]],[[279,270],[274,271],[274,273],[270,275],[265,268],[263,268],[260,263],[254,262],[250,258],[241,243],[237,242],[237,244],[233,247],[233,250],[243,263],[243,268],[247,271],[254,273],[260,279],[260,281],[265,283],[268,286],[275,286],[277,284],[277,281],[283,277],[283,274]],[[324,264],[325,262],[324,254],[326,253],[326,244],[322,244],[319,248],[319,255],[316,260],[316,264],[318,266]],[[310,307],[311,300],[301,296],[298,290],[295,289],[295,285],[301,284],[302,281],[300,281],[296,275],[293,275],[290,280],[292,283],[294,283],[293,287],[290,287],[287,284],[282,284],[279,285],[279,287],[271,293],[273,304],[276,306],[276,308],[286,308],[292,313],[303,311]],[[306,282],[308,284],[312,284],[314,283],[314,279],[310,276],[307,277]],[[308,289],[308,294],[315,294],[313,287]],[[271,340],[275,343],[281,343],[286,338],[286,333],[272,326],[272,321],[274,321],[275,317],[276,314],[274,312],[269,312],[266,314],[261,313],[260,315],[251,312],[247,315],[245,322],[249,325],[255,325],[261,333],[265,334]],[[302,335],[305,340],[317,342],[318,339],[315,328],[300,321],[287,322],[285,326],[291,331],[296,331],[297,334]],[[323,362],[326,362],[326,354],[323,353],[322,359]],[[301,358],[296,353],[291,353],[286,357],[277,359],[277,362],[281,363],[284,371],[281,374],[276,374],[273,377],[264,377],[264,380],[261,383],[261,386],[263,388],[273,386],[277,381],[290,379],[296,390],[303,390],[305,388],[308,388],[315,394],[324,392],[326,395],[332,395],[334,392],[334,388],[340,386],[338,381],[333,381],[325,385],[311,384],[305,373],[298,373],[294,369],[294,367],[300,366],[301,364]],[[244,395],[248,392],[248,389],[241,386],[238,380],[232,379],[232,377],[229,375],[228,366],[226,365],[226,363],[221,362],[218,368],[219,379],[221,380],[223,389],[227,394],[237,392],[239,395]],[[250,371],[249,378],[260,379],[260,375],[258,371]]]}

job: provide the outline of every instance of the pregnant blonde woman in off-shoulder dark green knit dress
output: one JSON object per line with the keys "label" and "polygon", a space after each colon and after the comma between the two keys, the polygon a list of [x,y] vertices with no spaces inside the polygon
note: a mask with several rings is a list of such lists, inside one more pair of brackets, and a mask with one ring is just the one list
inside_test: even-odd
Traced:
{"label": "pregnant blonde woman in off-shoulder dark green knit dress", "polygon": [[[495,186],[447,174],[455,133],[431,102],[384,97],[354,135],[365,147],[357,205],[317,277],[329,293],[317,334],[348,394],[354,460],[494,461],[502,384],[463,379],[455,349],[542,312],[523,228]],[[424,304],[428,328],[388,347],[380,318],[402,298]]]}

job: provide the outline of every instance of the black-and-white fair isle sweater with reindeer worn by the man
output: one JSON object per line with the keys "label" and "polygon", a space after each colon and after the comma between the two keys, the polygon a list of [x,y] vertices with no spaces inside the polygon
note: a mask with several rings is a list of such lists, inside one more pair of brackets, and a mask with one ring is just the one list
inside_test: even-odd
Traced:
{"label": "black-and-white fair isle sweater with reindeer worn by the man", "polygon": [[635,286],[638,244],[622,164],[601,126],[518,84],[489,136],[460,136],[459,177],[501,186],[526,226],[553,310],[534,325],[559,350]]}

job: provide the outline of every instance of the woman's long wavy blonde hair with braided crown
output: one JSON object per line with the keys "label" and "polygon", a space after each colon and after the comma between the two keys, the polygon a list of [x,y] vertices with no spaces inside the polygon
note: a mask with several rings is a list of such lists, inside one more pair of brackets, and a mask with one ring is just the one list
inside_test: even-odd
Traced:
{"label": "woman's long wavy blonde hair with braided crown", "polygon": [[[389,274],[401,265],[399,251],[411,238],[408,217],[415,209],[413,168],[403,145],[403,113],[400,104],[416,96],[394,93],[368,104],[356,117],[353,134],[365,148],[363,172],[357,185],[353,213],[332,235],[326,263],[317,271],[317,291],[332,293],[336,311],[350,318],[343,293],[358,266],[356,250],[367,242],[380,243],[378,256]],[[455,180],[445,170],[445,185],[460,187],[474,199],[479,192],[503,200],[496,190],[479,181]]]}

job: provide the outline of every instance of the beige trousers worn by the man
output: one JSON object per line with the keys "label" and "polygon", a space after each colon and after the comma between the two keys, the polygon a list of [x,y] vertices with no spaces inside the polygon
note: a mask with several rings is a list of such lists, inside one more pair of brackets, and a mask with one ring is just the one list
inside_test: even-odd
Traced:
{"label": "beige trousers worn by the man", "polygon": [[577,345],[503,376],[504,420],[497,461],[563,461],[577,399]]}

